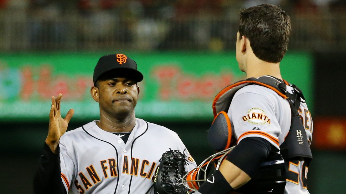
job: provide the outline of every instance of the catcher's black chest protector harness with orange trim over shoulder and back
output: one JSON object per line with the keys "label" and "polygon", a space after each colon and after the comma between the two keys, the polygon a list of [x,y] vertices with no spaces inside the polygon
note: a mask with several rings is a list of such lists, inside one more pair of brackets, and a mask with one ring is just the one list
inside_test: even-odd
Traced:
{"label": "catcher's black chest protector harness with orange trim over shoulder and back", "polygon": [[[216,95],[212,107],[214,117],[220,111],[227,112],[235,93],[240,88],[250,84],[265,86],[266,88],[275,91],[283,99],[288,100],[292,112],[292,118],[289,133],[280,146],[282,157],[285,160],[304,157],[306,161],[310,162],[312,154],[307,134],[298,113],[301,99],[305,99],[302,91],[295,85],[290,85],[286,81],[281,82],[280,80],[270,76],[262,76],[258,79],[249,78],[247,80],[236,82],[235,84],[227,86]],[[287,85],[290,85],[293,88],[293,91],[288,92]]]}

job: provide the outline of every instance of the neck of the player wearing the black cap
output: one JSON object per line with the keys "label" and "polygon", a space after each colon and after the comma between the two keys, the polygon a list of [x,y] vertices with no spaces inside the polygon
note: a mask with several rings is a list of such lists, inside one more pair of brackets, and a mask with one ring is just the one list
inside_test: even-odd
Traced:
{"label": "neck of the player wearing the black cap", "polygon": [[117,119],[106,114],[100,114],[100,121],[96,124],[104,131],[108,132],[130,132],[136,125],[135,113],[129,114],[126,118]]}

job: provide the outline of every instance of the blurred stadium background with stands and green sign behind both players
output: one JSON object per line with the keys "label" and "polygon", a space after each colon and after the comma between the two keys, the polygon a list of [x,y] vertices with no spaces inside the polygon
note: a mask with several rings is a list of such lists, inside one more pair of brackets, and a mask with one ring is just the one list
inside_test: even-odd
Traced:
{"label": "blurred stadium background with stands and green sign behind both players", "polygon": [[75,109],[68,130],[99,118],[89,94],[105,54],[124,53],[144,74],[136,116],[177,132],[197,163],[213,151],[211,104],[245,78],[235,59],[240,8],[274,3],[292,20],[285,80],[312,114],[311,194],[346,185],[346,1],[0,0],[0,188],[30,194],[52,95]]}

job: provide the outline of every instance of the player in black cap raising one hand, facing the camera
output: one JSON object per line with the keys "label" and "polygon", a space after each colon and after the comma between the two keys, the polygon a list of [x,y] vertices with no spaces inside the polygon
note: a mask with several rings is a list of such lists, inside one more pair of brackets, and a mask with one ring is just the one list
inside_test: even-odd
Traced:
{"label": "player in black cap raising one hand, facing the camera", "polygon": [[61,117],[62,94],[49,113],[44,154],[34,177],[34,193],[153,194],[153,177],[162,154],[179,150],[185,169],[196,166],[179,136],[160,125],[135,117],[143,75],[124,54],[101,57],[95,66],[92,98],[100,120],[66,132],[74,110]]}

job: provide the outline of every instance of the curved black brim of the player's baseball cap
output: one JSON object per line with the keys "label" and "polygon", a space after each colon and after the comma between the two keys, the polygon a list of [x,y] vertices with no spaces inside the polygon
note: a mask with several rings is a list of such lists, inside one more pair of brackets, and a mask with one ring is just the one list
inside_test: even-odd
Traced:
{"label": "curved black brim of the player's baseball cap", "polygon": [[[102,73],[98,78],[95,80],[99,80],[102,78],[102,76],[105,76],[104,79],[110,79],[110,78],[128,78],[130,80],[133,80],[135,82],[140,82],[143,80],[143,74],[139,72],[138,70],[132,69],[132,68],[114,68],[110,69],[104,73]],[[94,83],[95,84],[95,83]]]}

